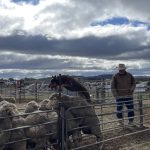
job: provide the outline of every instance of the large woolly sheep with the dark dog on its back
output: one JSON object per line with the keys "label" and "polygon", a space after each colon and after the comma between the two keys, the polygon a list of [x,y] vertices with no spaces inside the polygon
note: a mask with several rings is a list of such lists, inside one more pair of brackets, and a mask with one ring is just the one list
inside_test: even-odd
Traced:
{"label": "large woolly sheep with the dark dog on its back", "polygon": [[[71,112],[74,118],[81,118],[77,119],[79,126],[87,126],[86,128],[82,128],[82,132],[84,134],[93,134],[97,138],[97,142],[102,140],[102,133],[99,126],[99,119],[96,116],[95,110],[93,106],[84,100],[82,97],[77,96],[68,96],[68,95],[61,95],[54,93],[50,97],[51,104],[53,105],[54,109],[58,109],[59,103],[68,110],[71,107],[79,107],[80,109],[70,109],[68,112]],[[83,106],[83,107],[82,107]]]}

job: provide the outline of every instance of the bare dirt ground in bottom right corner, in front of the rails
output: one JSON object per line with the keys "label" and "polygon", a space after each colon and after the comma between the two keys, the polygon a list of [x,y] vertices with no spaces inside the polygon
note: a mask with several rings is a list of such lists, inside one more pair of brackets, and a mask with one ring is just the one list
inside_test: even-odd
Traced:
{"label": "bare dirt ground in bottom right corner, in front of the rails", "polygon": [[[104,140],[111,139],[103,143],[102,150],[150,150],[150,130],[130,136],[123,136],[133,132],[145,130],[148,128],[124,128],[118,131],[104,135]],[[123,136],[116,138],[117,136]],[[116,138],[116,139],[115,139]],[[90,141],[90,142],[89,142]],[[96,139],[91,137],[81,145],[95,143]],[[96,146],[82,148],[82,150],[97,150]]]}

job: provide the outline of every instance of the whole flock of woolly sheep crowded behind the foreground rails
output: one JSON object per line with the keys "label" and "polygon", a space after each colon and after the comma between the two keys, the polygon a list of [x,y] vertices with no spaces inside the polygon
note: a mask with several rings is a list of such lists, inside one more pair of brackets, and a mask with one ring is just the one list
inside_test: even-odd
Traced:
{"label": "whole flock of woolly sheep crowded behind the foreground rails", "polygon": [[[73,147],[80,145],[83,134],[95,135],[97,142],[102,140],[94,107],[82,97],[61,95],[60,98],[59,94],[54,93],[39,104],[30,101],[23,113],[14,102],[0,97],[0,150],[59,149],[60,103],[66,112],[67,139],[72,138]],[[101,147],[98,144],[97,148]]]}

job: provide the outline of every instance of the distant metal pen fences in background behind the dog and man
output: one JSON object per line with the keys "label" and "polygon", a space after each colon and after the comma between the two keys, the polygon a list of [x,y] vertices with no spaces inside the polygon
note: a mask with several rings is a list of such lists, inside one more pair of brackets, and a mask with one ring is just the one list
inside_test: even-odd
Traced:
{"label": "distant metal pen fences in background behind the dog and man", "polygon": [[[106,85],[105,80],[99,82],[99,86],[93,86],[93,88],[89,88],[87,86],[91,98],[97,103],[101,103],[107,100],[113,99],[112,92],[110,89],[110,85]],[[61,92],[67,95],[77,96],[78,92],[70,92],[61,87]],[[48,84],[42,82],[31,82],[26,83],[25,81],[21,85],[16,84],[0,84],[0,95],[4,97],[15,97],[17,102],[23,102],[28,100],[40,101],[44,98],[48,98],[51,93],[54,91],[48,88]],[[134,92],[134,97],[139,98],[140,96],[144,96],[144,98],[150,98],[150,92],[145,87],[137,87]]]}

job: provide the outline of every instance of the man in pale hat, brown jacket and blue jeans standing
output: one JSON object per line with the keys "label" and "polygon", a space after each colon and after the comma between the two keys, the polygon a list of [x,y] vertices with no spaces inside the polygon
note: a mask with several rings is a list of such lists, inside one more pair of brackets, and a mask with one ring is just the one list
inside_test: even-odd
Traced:
{"label": "man in pale hat, brown jacket and blue jeans standing", "polygon": [[124,64],[118,65],[118,73],[112,77],[111,90],[113,96],[116,98],[117,103],[117,118],[121,126],[123,123],[123,105],[125,104],[128,109],[129,124],[133,125],[134,120],[134,104],[133,92],[135,89],[135,79],[129,72],[126,71]]}

